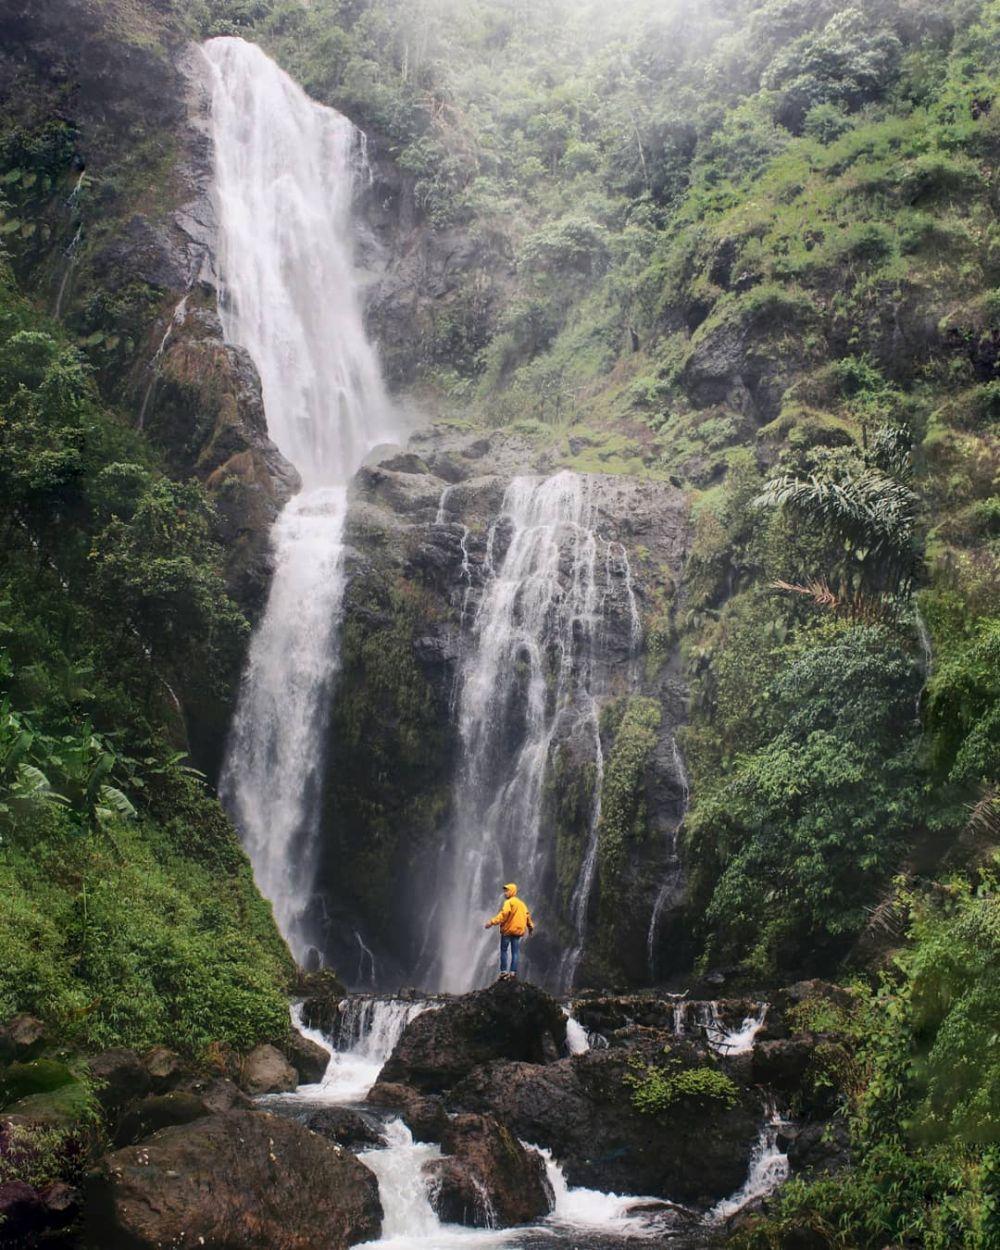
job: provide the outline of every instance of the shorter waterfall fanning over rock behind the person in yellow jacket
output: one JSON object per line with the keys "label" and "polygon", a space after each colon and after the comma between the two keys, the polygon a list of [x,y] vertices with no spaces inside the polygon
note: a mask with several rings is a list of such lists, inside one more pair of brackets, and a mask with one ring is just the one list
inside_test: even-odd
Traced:
{"label": "shorter waterfall fanning over rock behind the person in yellow jacket", "polygon": [[[500,885],[522,882],[526,901],[551,855],[544,836],[546,770],[558,739],[571,738],[595,764],[592,812],[576,882],[576,942],[559,979],[571,982],[582,950],[596,864],[601,749],[596,652],[612,598],[611,548],[594,529],[590,481],[572,472],[516,478],[489,531],[486,585],[461,672],[462,765],[445,854],[438,982],[454,991],[481,980],[492,948],[482,919]],[[625,580],[625,569],[620,570]],[[622,598],[630,638],[638,612]]]}

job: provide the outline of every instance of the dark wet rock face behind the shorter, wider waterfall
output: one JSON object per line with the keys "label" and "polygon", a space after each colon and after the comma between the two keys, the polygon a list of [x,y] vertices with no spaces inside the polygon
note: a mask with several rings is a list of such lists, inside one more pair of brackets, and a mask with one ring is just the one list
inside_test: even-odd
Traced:
{"label": "dark wet rock face behind the shorter, wider waterfall", "polygon": [[[462,758],[456,715],[462,664],[475,645],[476,612],[492,570],[511,539],[509,525],[500,522],[492,532],[491,526],[515,476],[549,476],[558,468],[550,450],[521,434],[439,425],[415,434],[405,450],[382,450],[352,485],[320,889],[328,901],[326,958],[359,986],[369,975],[359,932],[375,954],[380,980],[426,975],[416,956],[432,949],[428,906],[448,874],[439,848]],[[606,894],[619,891],[628,904],[609,904],[618,920],[604,962],[589,961],[599,945],[599,909],[592,909],[581,975],[584,982],[645,981],[650,916],[672,862],[671,836],[685,801],[672,746],[685,690],[669,635],[690,536],[688,501],[668,482],[594,474],[585,484],[604,596],[595,684],[601,701],[639,686],[662,716],[642,780],[648,834],[628,841],[619,880],[602,882]],[[630,601],[650,634],[668,639],[659,665],[635,659]],[[509,721],[504,758],[516,758],[524,724],[514,706]],[[591,830],[592,749],[585,735],[569,731],[572,715],[564,721],[551,745],[542,800],[546,861],[530,892],[532,901],[545,902],[545,922],[531,948],[536,979],[554,978],[574,941],[572,901]],[[604,745],[611,750],[610,739]],[[674,924],[681,892],[660,914],[661,976],[686,954],[684,932]]]}

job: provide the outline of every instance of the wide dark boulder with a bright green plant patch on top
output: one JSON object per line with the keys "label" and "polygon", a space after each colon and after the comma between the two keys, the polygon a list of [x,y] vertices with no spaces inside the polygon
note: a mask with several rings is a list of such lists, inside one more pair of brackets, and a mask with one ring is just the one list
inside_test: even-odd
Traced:
{"label": "wide dark boulder with a bright green plant patch on top", "polygon": [[711,1206],[739,1189],[760,1129],[760,1104],[746,1088],[732,1098],[679,1089],[676,1100],[649,1114],[634,1104],[645,1065],[676,1075],[689,1069],[736,1069],[705,1048],[662,1034],[630,1046],[591,1050],[546,1068],[491,1062],[451,1092],[455,1109],[488,1111],[522,1141],[551,1149],[570,1185],[645,1194]]}

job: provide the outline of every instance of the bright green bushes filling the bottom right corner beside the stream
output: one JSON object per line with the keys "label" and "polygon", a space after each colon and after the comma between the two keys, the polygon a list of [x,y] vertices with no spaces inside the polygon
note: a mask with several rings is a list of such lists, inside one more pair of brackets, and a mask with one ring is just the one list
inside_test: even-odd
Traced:
{"label": "bright green bushes filling the bottom right corner beside the stream", "polygon": [[806,1028],[841,1039],[818,1076],[840,1098],[854,1165],[792,1180],[740,1250],[779,1250],[806,1231],[860,1250],[996,1245],[999,904],[992,872],[975,890],[962,879],[901,889],[908,944],[892,970],[849,1010],[804,1004]]}

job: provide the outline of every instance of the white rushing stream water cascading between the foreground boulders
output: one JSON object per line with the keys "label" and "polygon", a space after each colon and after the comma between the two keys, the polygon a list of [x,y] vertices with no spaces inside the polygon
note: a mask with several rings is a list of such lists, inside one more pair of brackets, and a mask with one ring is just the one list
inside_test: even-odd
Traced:
{"label": "white rushing stream water cascading between the foreground boulders", "polygon": [[[384,1210],[382,1236],[368,1246],[390,1250],[534,1250],[534,1248],[566,1248],[566,1250],[624,1250],[646,1245],[670,1246],[671,1250],[700,1250],[711,1244],[718,1225],[744,1206],[770,1192],[788,1175],[788,1160],[778,1148],[781,1119],[774,1106],[768,1106],[744,1185],[724,1199],[706,1215],[671,1208],[659,1198],[602,1194],[599,1190],[569,1185],[559,1162],[551,1154],[534,1146],[545,1160],[555,1205],[536,1224],[516,1229],[470,1229],[442,1224],[430,1204],[428,1180],[422,1166],[440,1158],[440,1148],[414,1141],[406,1125],[391,1111],[364,1102],[379,1071],[402,1035],[402,1030],[420,1015],[432,1011],[432,1000],[398,998],[351,998],[345,1000],[336,1036],[326,1038],[302,1024],[298,1008],[292,1009],[295,1026],[319,1042],[330,1055],[322,1080],[300,1085],[292,1094],[272,1094],[260,1099],[268,1110],[306,1121],[321,1108],[340,1105],[362,1111],[369,1119],[382,1121],[386,1145],[365,1150],[359,1158],[379,1179],[379,1195]],[[761,1026],[765,1011],[725,1034],[718,1024],[711,1044],[730,1054],[749,1050]],[[718,1018],[716,1018],[718,1021]],[[710,1021],[715,1024],[716,1021]],[[709,1034],[710,1039],[712,1038]],[[571,1016],[566,1022],[568,1049],[580,1054],[591,1044],[586,1030]],[[596,1041],[596,1039],[594,1039]],[[525,1142],[525,1145],[532,1145]]]}

